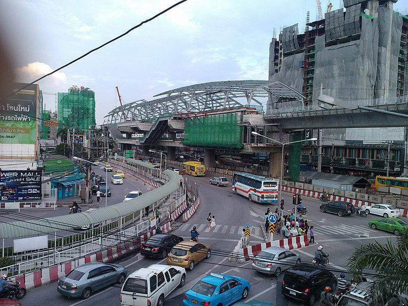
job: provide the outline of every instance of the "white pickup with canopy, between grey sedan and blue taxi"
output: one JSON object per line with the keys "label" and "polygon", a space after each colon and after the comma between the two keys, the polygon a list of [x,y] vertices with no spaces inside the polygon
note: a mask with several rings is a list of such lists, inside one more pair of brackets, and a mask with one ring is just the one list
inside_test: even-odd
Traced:
{"label": "white pickup with canopy, between grey sedan and blue taxi", "polygon": [[167,265],[151,265],[136,270],[123,283],[120,291],[122,305],[163,305],[163,301],[177,286],[186,282],[186,269]]}

